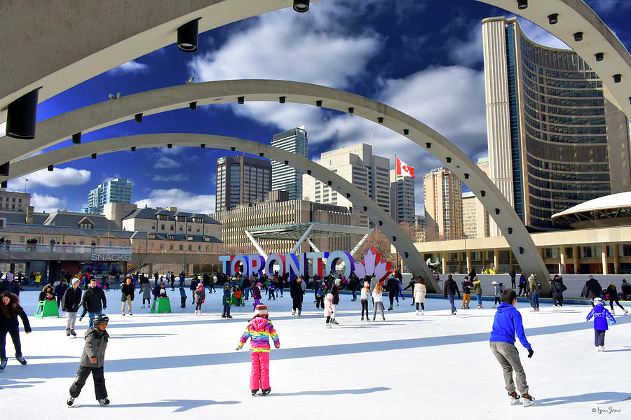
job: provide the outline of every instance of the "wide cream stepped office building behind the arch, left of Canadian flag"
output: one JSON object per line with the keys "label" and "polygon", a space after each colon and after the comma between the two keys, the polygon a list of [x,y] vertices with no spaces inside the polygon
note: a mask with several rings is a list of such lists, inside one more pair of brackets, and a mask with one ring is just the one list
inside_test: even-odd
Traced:
{"label": "wide cream stepped office building behind the arch, left of Canadian flag", "polygon": [[[369,144],[355,144],[322,153],[318,162],[323,167],[346,179],[390,214],[390,160],[372,154]],[[312,176],[303,175],[303,191],[306,200],[352,208],[346,196]],[[353,214],[363,214],[363,209],[353,209]],[[362,225],[368,225],[362,216]]]}

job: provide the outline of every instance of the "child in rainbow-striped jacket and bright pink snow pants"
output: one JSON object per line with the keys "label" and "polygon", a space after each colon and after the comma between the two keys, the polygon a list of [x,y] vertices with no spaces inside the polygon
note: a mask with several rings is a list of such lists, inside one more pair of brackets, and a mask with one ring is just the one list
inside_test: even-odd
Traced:
{"label": "child in rainbow-striped jacket and bright pink snow pants", "polygon": [[250,374],[250,390],[252,396],[257,395],[259,387],[263,395],[271,392],[269,386],[269,339],[273,339],[276,349],[280,348],[280,340],[271,321],[268,319],[267,307],[258,304],[255,308],[255,316],[252,318],[245,332],[239,340],[237,350],[243,348],[243,344],[250,337],[250,357],[252,358],[252,373]]}

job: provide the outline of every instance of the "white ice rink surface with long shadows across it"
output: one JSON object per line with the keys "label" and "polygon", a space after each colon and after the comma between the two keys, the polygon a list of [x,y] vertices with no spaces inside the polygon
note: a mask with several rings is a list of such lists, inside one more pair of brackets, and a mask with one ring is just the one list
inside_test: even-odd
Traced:
{"label": "white ice rink surface with long shadows across it", "polygon": [[[252,304],[233,308],[234,318],[222,320],[220,293],[207,295],[203,314],[195,316],[190,290],[186,309],[179,308],[177,290],[168,292],[172,314],[149,314],[136,298],[132,317],[120,314],[120,291],[107,292],[111,405],[99,407],[88,378],[71,408],[65,400],[88,318],[78,322],[79,337],[70,339],[63,314],[34,318],[36,292],[21,293],[33,332],[20,332],[27,366],[13,358],[7,336],[9,360],[0,371],[3,418],[631,418],[631,315],[620,309],[606,334],[606,351],[597,353],[592,323],[585,322],[589,306],[543,304],[531,314],[527,304],[518,304],[534,357],[527,358],[520,344],[517,349],[537,399],[524,408],[509,405],[501,367],[489,350],[490,302],[482,310],[459,309],[454,317],[447,300],[428,299],[426,315],[416,316],[408,297],[386,312],[385,323],[379,315],[367,323],[360,321],[359,300],[342,295],[339,326],[326,330],[313,292],[305,296],[300,317],[290,314],[289,293],[275,301],[264,297],[280,349],[271,351],[271,394],[253,398],[247,346],[235,351]],[[609,407],[620,411],[609,414]]]}

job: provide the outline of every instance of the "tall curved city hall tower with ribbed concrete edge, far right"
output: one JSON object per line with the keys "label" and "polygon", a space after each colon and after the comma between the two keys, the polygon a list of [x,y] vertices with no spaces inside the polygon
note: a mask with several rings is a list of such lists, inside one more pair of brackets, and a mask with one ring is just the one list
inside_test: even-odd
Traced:
{"label": "tall curved city hall tower with ribbed concrete edge, far right", "polygon": [[482,34],[489,176],[527,228],[564,228],[552,214],[631,190],[629,121],[590,66],[516,18],[485,19]]}

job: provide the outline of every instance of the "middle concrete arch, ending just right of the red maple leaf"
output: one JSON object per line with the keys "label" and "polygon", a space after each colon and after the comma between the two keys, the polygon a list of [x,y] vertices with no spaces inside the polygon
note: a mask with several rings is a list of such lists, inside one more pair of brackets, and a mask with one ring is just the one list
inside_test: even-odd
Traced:
{"label": "middle concrete arch, ending just right of the red maple leaf", "polygon": [[[189,106],[191,102],[197,102],[198,105],[240,102],[241,99],[280,102],[281,97],[285,102],[325,106],[342,112],[353,111],[355,116],[384,125],[425,148],[458,175],[489,210],[522,270],[536,273],[540,279],[549,278],[548,269],[534,241],[513,207],[482,169],[465,153],[430,127],[401,111],[358,94],[331,87],[285,80],[222,80],[164,87],[122,97],[116,101],[86,106],[44,120],[37,125],[39,134],[35,140],[8,141],[3,137],[0,139],[0,150],[4,151],[8,159],[15,160],[65,141],[76,132],[98,130],[133,119],[137,113],[149,115],[170,111]],[[5,179],[6,177],[0,177],[0,181]],[[545,286],[548,286],[547,282],[544,282]]]}

